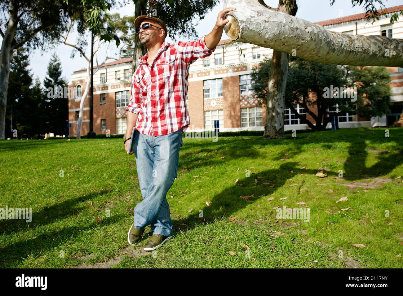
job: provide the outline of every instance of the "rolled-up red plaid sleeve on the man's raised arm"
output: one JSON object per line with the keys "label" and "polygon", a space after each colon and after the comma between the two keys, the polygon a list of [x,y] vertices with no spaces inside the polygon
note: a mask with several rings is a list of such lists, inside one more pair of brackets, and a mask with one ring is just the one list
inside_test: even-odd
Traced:
{"label": "rolled-up red plaid sleeve on the man's raised arm", "polygon": [[210,56],[212,52],[216,50],[217,46],[213,49],[209,49],[206,46],[206,41],[204,41],[204,37],[206,37],[206,35],[203,35],[197,41],[178,42],[179,54],[186,64],[189,64],[198,58],[205,58],[206,56]]}

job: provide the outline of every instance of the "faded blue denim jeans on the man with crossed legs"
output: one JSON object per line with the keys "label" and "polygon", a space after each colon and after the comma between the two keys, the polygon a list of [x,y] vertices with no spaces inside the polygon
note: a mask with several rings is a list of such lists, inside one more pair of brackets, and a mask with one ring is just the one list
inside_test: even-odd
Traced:
{"label": "faded blue denim jeans on the man with crossed legs", "polygon": [[172,220],[166,194],[177,177],[182,130],[167,135],[144,135],[135,131],[134,155],[143,201],[134,208],[133,225],[153,234],[172,235]]}

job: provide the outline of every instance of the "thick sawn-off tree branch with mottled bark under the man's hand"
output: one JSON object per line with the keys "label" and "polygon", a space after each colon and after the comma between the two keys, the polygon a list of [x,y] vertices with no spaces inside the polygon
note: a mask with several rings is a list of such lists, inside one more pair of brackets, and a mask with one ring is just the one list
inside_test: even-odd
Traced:
{"label": "thick sawn-off tree branch with mottled bark under the man's hand", "polygon": [[224,0],[236,10],[224,26],[231,40],[293,54],[304,60],[355,66],[403,67],[403,39],[349,35],[266,8],[258,0]]}

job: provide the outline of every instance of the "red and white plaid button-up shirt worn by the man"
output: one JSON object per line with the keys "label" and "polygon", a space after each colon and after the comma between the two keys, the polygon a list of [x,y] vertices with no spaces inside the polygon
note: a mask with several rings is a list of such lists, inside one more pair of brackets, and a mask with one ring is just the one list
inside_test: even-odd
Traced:
{"label": "red and white plaid button-up shirt worn by the man", "polygon": [[208,49],[205,36],[197,41],[164,41],[151,65],[147,63],[148,53],[139,58],[126,111],[139,114],[136,129],[142,134],[161,136],[189,127],[189,66],[216,49]]}

